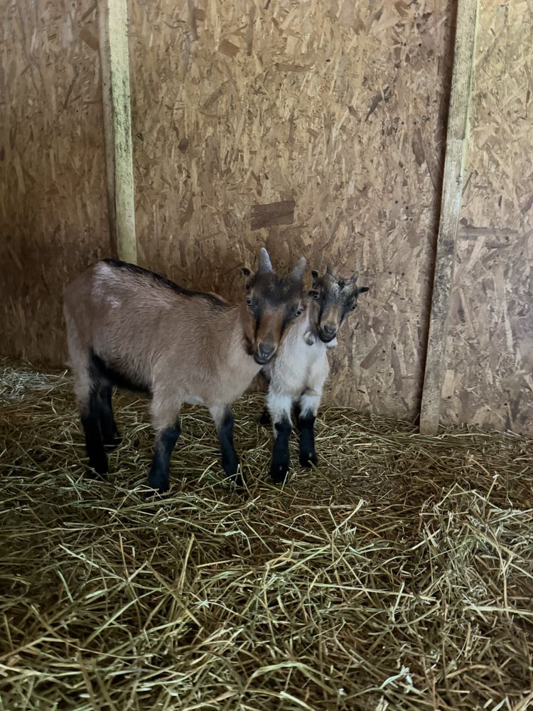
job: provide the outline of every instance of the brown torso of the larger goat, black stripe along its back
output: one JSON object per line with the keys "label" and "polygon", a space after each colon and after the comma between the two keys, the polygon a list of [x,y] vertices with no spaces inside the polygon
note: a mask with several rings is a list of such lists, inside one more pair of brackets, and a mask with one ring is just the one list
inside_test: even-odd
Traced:
{"label": "brown torso of the larger goat, black stripe along its back", "polygon": [[97,262],[65,289],[71,361],[79,349],[148,390],[169,380],[195,391],[238,349],[235,309],[138,267]]}

